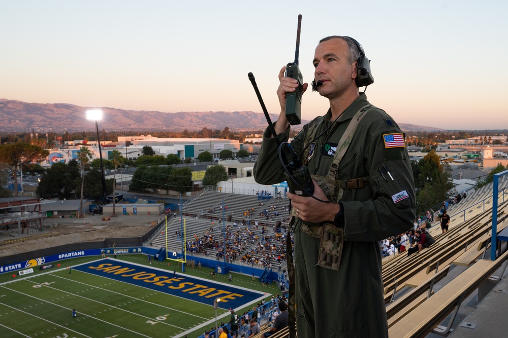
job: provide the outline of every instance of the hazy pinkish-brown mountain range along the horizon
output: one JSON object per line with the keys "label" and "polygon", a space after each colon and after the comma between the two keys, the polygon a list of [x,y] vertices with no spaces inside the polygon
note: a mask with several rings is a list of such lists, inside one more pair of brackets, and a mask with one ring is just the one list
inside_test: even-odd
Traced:
{"label": "hazy pinkish-brown mountain range along the horizon", "polygon": [[[69,103],[28,103],[0,99],[0,131],[27,132],[34,129],[43,132],[90,131],[94,124],[85,112],[98,107],[82,107]],[[180,111],[161,112],[124,110],[101,107],[104,112],[99,128],[131,131],[197,131],[203,128],[235,131],[263,130],[267,126],[265,116],[254,111]],[[272,121],[278,115],[270,114]],[[303,126],[308,121],[302,120]],[[403,131],[437,131],[433,127],[399,124]],[[298,126],[297,126],[298,128]]]}

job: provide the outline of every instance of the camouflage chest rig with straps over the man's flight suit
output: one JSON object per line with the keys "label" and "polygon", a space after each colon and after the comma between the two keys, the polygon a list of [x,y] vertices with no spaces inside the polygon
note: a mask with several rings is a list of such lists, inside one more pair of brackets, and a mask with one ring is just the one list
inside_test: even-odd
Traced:
{"label": "camouflage chest rig with straps over the man's flight suit", "polygon": [[[348,124],[344,134],[340,138],[339,145],[337,146],[328,174],[326,176],[311,175],[326,194],[328,200],[332,203],[337,204],[340,202],[344,190],[361,188],[369,181],[368,176],[348,180],[338,180],[337,173],[339,163],[350,146],[360,122],[367,115],[367,112],[374,108],[375,107],[373,105],[368,104],[361,107],[356,112],[355,116]],[[322,121],[323,118],[314,120],[309,126],[304,142],[304,149],[306,149],[310,142],[314,140],[315,134],[317,133],[317,127]],[[306,165],[307,162],[308,158],[305,157],[303,159],[303,163]],[[296,216],[294,210],[293,215]],[[321,239],[317,265],[331,270],[339,270],[342,246],[344,243],[344,230],[336,227],[333,222],[324,222],[320,224],[302,223],[301,230],[311,237]]]}

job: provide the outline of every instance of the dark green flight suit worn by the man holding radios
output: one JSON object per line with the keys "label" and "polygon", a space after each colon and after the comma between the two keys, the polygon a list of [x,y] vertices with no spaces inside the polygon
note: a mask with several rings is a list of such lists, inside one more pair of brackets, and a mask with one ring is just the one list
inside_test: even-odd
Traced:
{"label": "dark green flight suit worn by the man holding radios", "polygon": [[[334,148],[353,116],[367,104],[366,96],[361,93],[325,132],[333,122],[330,122],[329,110],[314,133],[315,137],[321,136],[306,149],[303,146],[309,124],[291,141],[300,158],[308,159],[311,174],[327,175]],[[339,270],[316,265],[320,238],[304,233],[302,220],[296,218],[294,257],[298,338],[388,336],[382,257],[377,241],[412,228],[416,212],[415,184],[407,149],[404,144],[401,146],[392,141],[394,135],[400,139],[401,134],[386,112],[372,109],[360,121],[339,163],[337,180],[365,178],[363,187],[344,190],[339,202],[343,216],[338,217],[335,225],[344,228]],[[261,184],[285,180],[275,139],[268,138],[268,135],[267,129],[253,170],[256,181]],[[287,141],[289,129],[278,137],[280,141]]]}

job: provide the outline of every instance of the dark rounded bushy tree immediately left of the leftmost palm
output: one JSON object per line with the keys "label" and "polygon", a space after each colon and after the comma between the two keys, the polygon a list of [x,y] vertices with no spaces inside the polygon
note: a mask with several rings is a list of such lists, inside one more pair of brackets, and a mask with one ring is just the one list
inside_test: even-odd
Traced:
{"label": "dark rounded bushy tree immediately left of the leftmost palm", "polygon": [[[55,163],[42,175],[36,189],[37,196],[41,198],[69,199],[73,191],[79,186],[79,168],[76,161]],[[74,195],[75,196],[75,195]]]}

